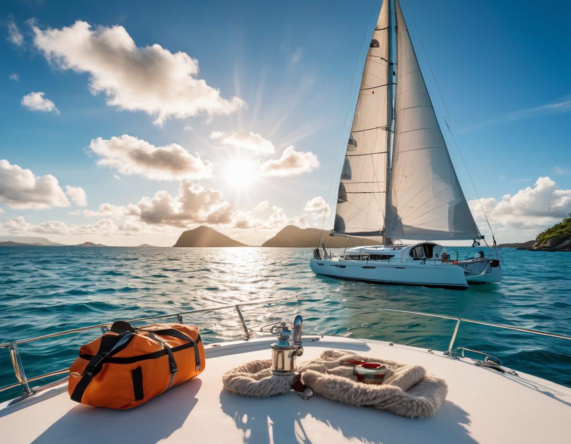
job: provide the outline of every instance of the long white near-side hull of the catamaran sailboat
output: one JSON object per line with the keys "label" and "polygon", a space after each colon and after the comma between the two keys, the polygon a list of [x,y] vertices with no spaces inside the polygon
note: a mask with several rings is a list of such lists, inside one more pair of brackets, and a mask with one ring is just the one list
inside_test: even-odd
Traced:
{"label": "long white near-side hull of the catamaran sailboat", "polygon": [[[383,261],[384,262],[384,261]],[[311,270],[316,275],[392,285],[419,285],[439,288],[466,289],[468,281],[459,265],[408,261],[372,263],[359,260],[312,259]]]}

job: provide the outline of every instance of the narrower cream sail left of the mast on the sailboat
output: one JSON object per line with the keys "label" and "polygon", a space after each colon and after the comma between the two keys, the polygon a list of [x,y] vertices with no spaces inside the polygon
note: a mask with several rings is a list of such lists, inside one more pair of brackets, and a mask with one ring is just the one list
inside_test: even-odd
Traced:
{"label": "narrower cream sail left of the mast on the sailboat", "polygon": [[[335,234],[380,236],[385,218],[389,88],[389,0],[383,2],[365,67],[341,172]],[[392,104],[391,104],[392,106]]]}

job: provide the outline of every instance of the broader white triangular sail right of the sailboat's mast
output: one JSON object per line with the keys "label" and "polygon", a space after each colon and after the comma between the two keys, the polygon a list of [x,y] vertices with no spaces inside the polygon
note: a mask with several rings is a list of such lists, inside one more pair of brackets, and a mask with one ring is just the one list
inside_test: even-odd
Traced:
{"label": "broader white triangular sail right of the sailboat's mast", "polygon": [[385,236],[476,239],[480,231],[454,171],[398,0],[395,136]]}

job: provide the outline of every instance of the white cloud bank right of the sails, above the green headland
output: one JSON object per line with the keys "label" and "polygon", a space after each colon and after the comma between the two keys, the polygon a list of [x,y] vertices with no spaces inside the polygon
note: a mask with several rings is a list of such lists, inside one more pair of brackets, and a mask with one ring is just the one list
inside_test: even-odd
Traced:
{"label": "white cloud bank right of the sails, above the green headland", "polygon": [[[519,231],[531,239],[571,211],[571,189],[560,189],[550,177],[539,177],[533,187],[520,189],[513,196],[506,194],[500,201],[489,197],[481,202],[497,233],[513,235]],[[478,225],[485,226],[480,203],[471,200],[469,205]]]}

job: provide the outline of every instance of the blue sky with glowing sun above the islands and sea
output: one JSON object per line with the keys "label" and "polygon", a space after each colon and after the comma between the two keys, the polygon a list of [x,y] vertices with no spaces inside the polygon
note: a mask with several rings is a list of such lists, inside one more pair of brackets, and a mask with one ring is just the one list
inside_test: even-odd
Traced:
{"label": "blue sky with glowing sun above the islands and sea", "polygon": [[[541,7],[530,1],[517,2],[517,6],[491,0],[408,2],[456,141],[480,196],[486,198],[494,228],[501,234],[498,240],[532,239],[538,229],[571,211],[571,6],[566,1],[549,1]],[[203,174],[192,183],[219,192],[217,198],[225,202],[220,205],[228,205],[232,220],[224,216],[224,221],[210,225],[236,239],[258,244],[286,223],[320,226],[318,213],[323,204],[313,199],[326,198],[332,176],[339,176],[333,164],[348,134],[350,122],[344,127],[343,122],[348,110],[352,112],[363,66],[365,53],[358,60],[357,54],[379,13],[380,1],[369,23],[374,4],[2,2],[0,159],[6,159],[10,168],[16,164],[29,169],[34,176],[53,175],[64,191],[65,185],[81,187],[87,206],[81,206],[81,199],[80,205],[74,203],[71,194],[67,205],[63,196],[38,204],[15,196],[18,190],[2,198],[0,190],[0,230],[70,243],[168,245],[184,227],[202,224],[204,215],[194,219],[162,215],[154,222],[154,216],[141,216],[140,209],[136,214],[127,212],[128,204],[136,206],[158,191],[176,198],[180,180],[153,179],[140,171],[120,172],[117,164],[98,165],[102,155],[89,148],[91,140],[108,141],[122,135],[155,147],[178,144],[193,156],[198,152],[202,167],[210,162],[212,177]],[[445,116],[406,0],[402,6],[437,115]],[[127,99],[121,99],[120,105],[107,104],[107,90],[99,88],[92,94],[88,87],[93,73],[49,62],[46,46],[42,50],[34,42],[33,26],[43,33],[77,21],[89,23],[91,30],[123,27],[139,48],[158,44],[172,54],[188,54],[198,60],[200,72],[195,78],[219,90],[224,106],[232,107],[228,105],[232,97],[242,104],[235,102],[227,114],[169,115],[162,125],[153,123],[156,115],[152,112],[140,107],[138,111],[125,109]],[[15,27],[22,42],[10,37]],[[53,49],[55,43],[49,44]],[[82,63],[90,62],[82,59]],[[97,69],[116,69],[106,67],[107,59],[98,63]],[[13,74],[17,80],[10,78]],[[57,111],[34,109],[40,102],[45,105],[41,98],[36,98],[39,102],[32,109],[23,106],[23,97],[31,92],[43,92]],[[271,142],[274,152],[254,156],[251,150],[236,149],[230,142],[220,148],[224,136],[212,138],[214,131],[226,137],[259,135]],[[444,133],[465,195],[473,200],[476,194],[459,154],[448,132]],[[295,147],[295,155],[312,154],[319,167],[307,155],[301,159],[303,172],[275,169],[253,181],[245,179],[247,174],[236,173],[235,166],[248,171],[258,163],[280,159],[289,146]],[[251,160],[242,164],[245,152]],[[547,176],[550,181],[537,182]],[[335,194],[328,199],[331,207]],[[505,195],[510,199],[502,200]],[[268,204],[260,206],[264,201]],[[83,212],[96,211],[107,203],[123,208],[122,212],[90,217]],[[226,211],[226,207],[217,208]],[[19,216],[25,222],[10,223]],[[481,221],[476,211],[475,216]],[[102,219],[115,226],[125,221],[132,224],[122,231],[109,224],[95,226]],[[327,220],[326,228],[330,228],[332,216]],[[58,224],[47,225],[47,221]]]}

